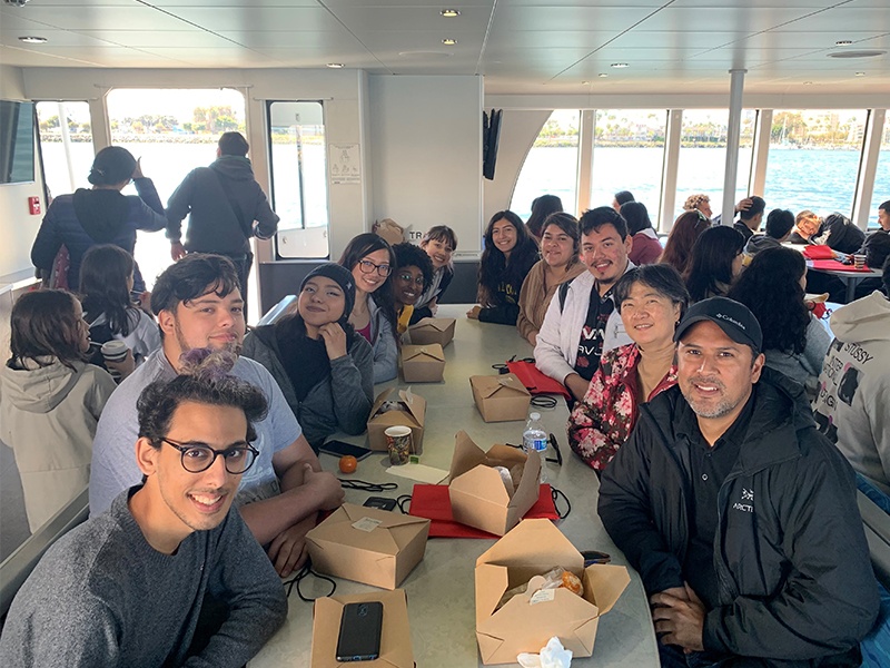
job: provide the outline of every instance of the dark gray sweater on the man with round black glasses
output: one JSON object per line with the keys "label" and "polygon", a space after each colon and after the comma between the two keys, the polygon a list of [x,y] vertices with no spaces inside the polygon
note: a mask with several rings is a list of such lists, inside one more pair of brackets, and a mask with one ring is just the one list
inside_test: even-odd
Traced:
{"label": "dark gray sweater on the man with round black glasses", "polygon": [[[284,588],[236,510],[167,556],[130,514],[127,501],[138,489],[43,556],[10,608],[0,665],[237,668],[281,626]],[[229,616],[200,655],[188,656],[207,592]]]}

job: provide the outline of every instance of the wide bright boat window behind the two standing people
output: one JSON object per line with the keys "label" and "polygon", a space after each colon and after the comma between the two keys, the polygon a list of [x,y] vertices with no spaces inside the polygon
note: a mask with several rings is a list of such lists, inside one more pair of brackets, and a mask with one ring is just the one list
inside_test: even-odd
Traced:
{"label": "wide bright boat window behind the two standing people", "polygon": [[[106,105],[111,144],[141,158],[142,173],[155,183],[165,205],[189,171],[216,159],[222,132],[246,136],[245,99],[230,88],[117,88],[108,94]],[[136,195],[136,188],[131,184],[123,194]],[[184,229],[187,223],[188,218]],[[151,289],[155,277],[172,264],[170,242],[162,232],[138,233],[136,261]],[[257,303],[255,297],[251,301]]]}

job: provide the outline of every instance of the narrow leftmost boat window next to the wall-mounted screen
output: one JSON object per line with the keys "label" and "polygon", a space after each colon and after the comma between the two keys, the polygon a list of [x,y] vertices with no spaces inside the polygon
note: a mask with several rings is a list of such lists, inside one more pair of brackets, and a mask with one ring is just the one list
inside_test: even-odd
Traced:
{"label": "narrow leftmost boat window next to the wall-mounted screen", "polygon": [[83,101],[37,102],[43,178],[52,197],[89,188],[92,128]]}

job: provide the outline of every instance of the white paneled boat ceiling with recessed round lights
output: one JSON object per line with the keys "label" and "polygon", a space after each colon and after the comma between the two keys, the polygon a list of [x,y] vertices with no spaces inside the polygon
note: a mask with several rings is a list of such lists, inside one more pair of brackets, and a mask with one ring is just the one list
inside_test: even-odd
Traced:
{"label": "white paneled boat ceiling with recessed round lights", "polygon": [[[488,95],[725,92],[728,70],[746,68],[746,92],[890,96],[890,0],[8,2],[0,0],[0,63],[13,66],[338,62],[378,75],[483,75]],[[461,16],[443,18],[445,8]],[[862,50],[883,53],[829,57]]]}

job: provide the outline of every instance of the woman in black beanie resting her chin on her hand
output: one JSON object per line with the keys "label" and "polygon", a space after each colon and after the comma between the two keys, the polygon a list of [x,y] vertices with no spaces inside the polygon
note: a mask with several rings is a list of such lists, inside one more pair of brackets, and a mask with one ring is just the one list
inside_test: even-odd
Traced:
{"label": "woman in black beanie resting her chin on her hand", "polygon": [[353,275],[323,264],[303,279],[296,313],[244,340],[241,354],[277,381],[316,451],[334,432],[365,431],[374,402],[370,344],[347,322],[355,296]]}

